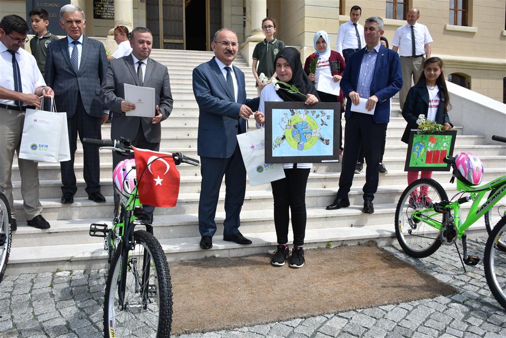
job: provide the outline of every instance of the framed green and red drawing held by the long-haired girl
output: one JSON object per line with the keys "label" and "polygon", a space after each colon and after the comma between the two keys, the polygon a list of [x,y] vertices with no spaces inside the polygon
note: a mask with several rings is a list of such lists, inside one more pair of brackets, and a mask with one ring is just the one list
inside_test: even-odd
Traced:
{"label": "framed green and red drawing held by the long-haired girl", "polygon": [[409,133],[408,151],[404,171],[406,172],[447,172],[450,164],[443,162],[446,156],[453,156],[456,130],[445,133]]}

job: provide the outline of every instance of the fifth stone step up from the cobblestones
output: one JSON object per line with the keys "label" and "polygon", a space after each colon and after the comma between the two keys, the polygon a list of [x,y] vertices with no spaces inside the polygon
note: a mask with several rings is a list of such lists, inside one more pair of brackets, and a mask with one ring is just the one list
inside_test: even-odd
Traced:
{"label": "fifth stone step up from the cobblestones", "polygon": [[[388,148],[387,148],[388,149]],[[177,150],[177,149],[173,149]],[[457,149],[458,150],[458,149]],[[502,149],[503,151],[504,149]],[[77,154],[77,153],[76,153]],[[185,149],[185,155],[188,155],[193,158],[198,158],[196,155],[196,151],[193,149]],[[385,154],[386,156],[383,158],[383,164],[387,167],[387,170],[404,170],[404,163],[406,161],[406,156],[399,157],[390,157],[388,152]],[[110,156],[107,155],[107,156]],[[506,161],[506,156],[504,155],[481,155],[478,153],[478,156],[483,162],[485,170],[489,168],[504,168],[504,161]],[[15,160],[16,161],[16,160]],[[76,162],[74,164],[75,175],[77,179],[82,179],[82,161]],[[104,161],[102,160],[100,163],[101,167],[101,177],[111,177],[112,173],[112,160]],[[60,164],[59,163],[47,163],[41,162],[38,165],[39,168],[39,179],[42,180],[58,180],[61,179],[60,176]],[[181,173],[181,176],[199,176],[200,175],[200,167],[193,166],[189,164],[181,164],[178,166],[178,170]],[[312,171],[318,173],[326,173],[326,172],[340,172],[341,171],[341,163],[314,163]],[[19,181],[19,166],[17,163],[14,163],[12,168],[12,180]]]}

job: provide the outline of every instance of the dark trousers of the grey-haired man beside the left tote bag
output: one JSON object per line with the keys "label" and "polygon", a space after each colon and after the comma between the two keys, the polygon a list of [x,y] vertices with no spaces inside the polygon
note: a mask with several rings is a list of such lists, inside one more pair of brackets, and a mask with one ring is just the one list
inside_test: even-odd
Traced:
{"label": "dark trousers of the grey-haired man beside the left tote bag", "polygon": [[[100,117],[90,116],[86,113],[82,105],[81,95],[77,94],[77,105],[75,114],[67,118],[68,137],[70,145],[70,160],[60,162],[62,174],[62,193],[71,193],[74,195],[77,191],[76,178],[74,172],[75,151],[77,150],[77,134],[79,140],[83,138],[102,139],[100,132]],[[86,192],[92,194],[100,192],[100,158],[99,148],[94,146],[82,145],[83,151],[83,176],[86,182]]]}

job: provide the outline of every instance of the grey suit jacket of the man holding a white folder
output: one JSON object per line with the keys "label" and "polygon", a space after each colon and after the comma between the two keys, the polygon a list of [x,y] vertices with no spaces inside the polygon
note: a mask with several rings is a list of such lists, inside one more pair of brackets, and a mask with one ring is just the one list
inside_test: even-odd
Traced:
{"label": "grey suit jacket of the man holding a white folder", "polygon": [[[105,80],[102,82],[100,100],[113,114],[111,138],[118,140],[120,137],[124,137],[134,140],[139,130],[139,123],[141,123],[146,141],[159,143],[161,139],[160,123],[151,123],[151,117],[125,116],[121,111],[121,101],[124,101],[124,83],[139,86],[132,54],[110,60]],[[159,106],[163,121],[171,114],[174,103],[167,67],[148,58],[143,87],[155,89],[155,105]],[[154,114],[155,112],[153,112],[153,116]]]}

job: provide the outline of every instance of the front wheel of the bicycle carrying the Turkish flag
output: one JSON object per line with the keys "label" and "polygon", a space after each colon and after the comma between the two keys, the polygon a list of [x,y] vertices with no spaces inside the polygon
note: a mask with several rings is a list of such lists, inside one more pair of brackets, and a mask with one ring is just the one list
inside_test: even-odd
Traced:
{"label": "front wheel of the bicycle carrying the Turkish flag", "polygon": [[119,303],[123,249],[110,265],[104,300],[104,337],[168,337],[172,325],[172,284],[167,260],[156,238],[134,232],[129,250],[124,301]]}

